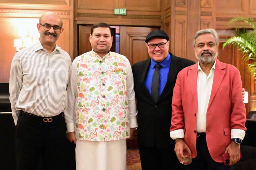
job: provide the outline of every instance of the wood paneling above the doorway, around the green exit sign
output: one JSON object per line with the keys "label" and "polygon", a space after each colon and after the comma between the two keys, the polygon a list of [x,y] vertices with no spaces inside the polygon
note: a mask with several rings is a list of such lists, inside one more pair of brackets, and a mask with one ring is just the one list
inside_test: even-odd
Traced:
{"label": "wood paneling above the doorway, around the green exit sign", "polygon": [[[74,56],[77,56],[78,25],[105,22],[113,26],[161,27],[161,0],[75,0]],[[114,15],[115,8],[126,8],[127,15]]]}

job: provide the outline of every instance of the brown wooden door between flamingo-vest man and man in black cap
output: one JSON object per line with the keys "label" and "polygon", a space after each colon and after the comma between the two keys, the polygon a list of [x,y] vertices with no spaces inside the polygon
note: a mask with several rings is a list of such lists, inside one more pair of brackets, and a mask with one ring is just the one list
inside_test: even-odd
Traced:
{"label": "brown wooden door between flamingo-vest man and man in black cap", "polygon": [[133,65],[149,58],[145,39],[156,27],[120,27],[120,54],[126,56]]}

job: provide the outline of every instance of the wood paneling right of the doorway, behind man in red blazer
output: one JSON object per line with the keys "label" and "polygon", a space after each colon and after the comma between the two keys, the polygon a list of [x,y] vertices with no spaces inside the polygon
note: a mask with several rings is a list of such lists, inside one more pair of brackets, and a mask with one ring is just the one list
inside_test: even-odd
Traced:
{"label": "wood paneling right of the doorway, behind man in red blazer", "polygon": [[[256,0],[163,0],[162,30],[170,37],[170,51],[176,56],[197,61],[192,45],[195,33],[200,29],[213,28],[220,36],[219,59],[236,66],[241,74],[243,87],[250,97],[256,99],[254,79],[248,73],[241,52],[231,46],[222,50],[222,44],[235,35],[237,23],[228,24],[236,16],[256,19]],[[239,27],[248,27],[243,23]],[[255,106],[256,107],[256,106]]]}

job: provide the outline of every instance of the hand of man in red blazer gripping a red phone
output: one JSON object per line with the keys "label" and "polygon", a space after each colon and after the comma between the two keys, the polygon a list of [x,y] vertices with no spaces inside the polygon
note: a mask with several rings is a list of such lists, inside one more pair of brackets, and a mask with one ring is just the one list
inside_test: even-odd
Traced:
{"label": "hand of man in red blazer gripping a red phone", "polygon": [[225,153],[229,153],[229,165],[234,165],[240,159],[240,144],[231,142],[225,150]]}

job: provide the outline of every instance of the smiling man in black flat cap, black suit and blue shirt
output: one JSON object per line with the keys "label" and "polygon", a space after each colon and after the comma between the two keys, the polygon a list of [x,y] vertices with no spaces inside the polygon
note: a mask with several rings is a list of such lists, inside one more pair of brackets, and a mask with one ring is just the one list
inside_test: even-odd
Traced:
{"label": "smiling man in black flat cap, black suit and blue shirt", "polygon": [[169,37],[163,31],[150,32],[145,42],[150,59],[132,67],[142,169],[180,170],[169,135],[172,93],[179,71],[195,62],[168,53]]}

